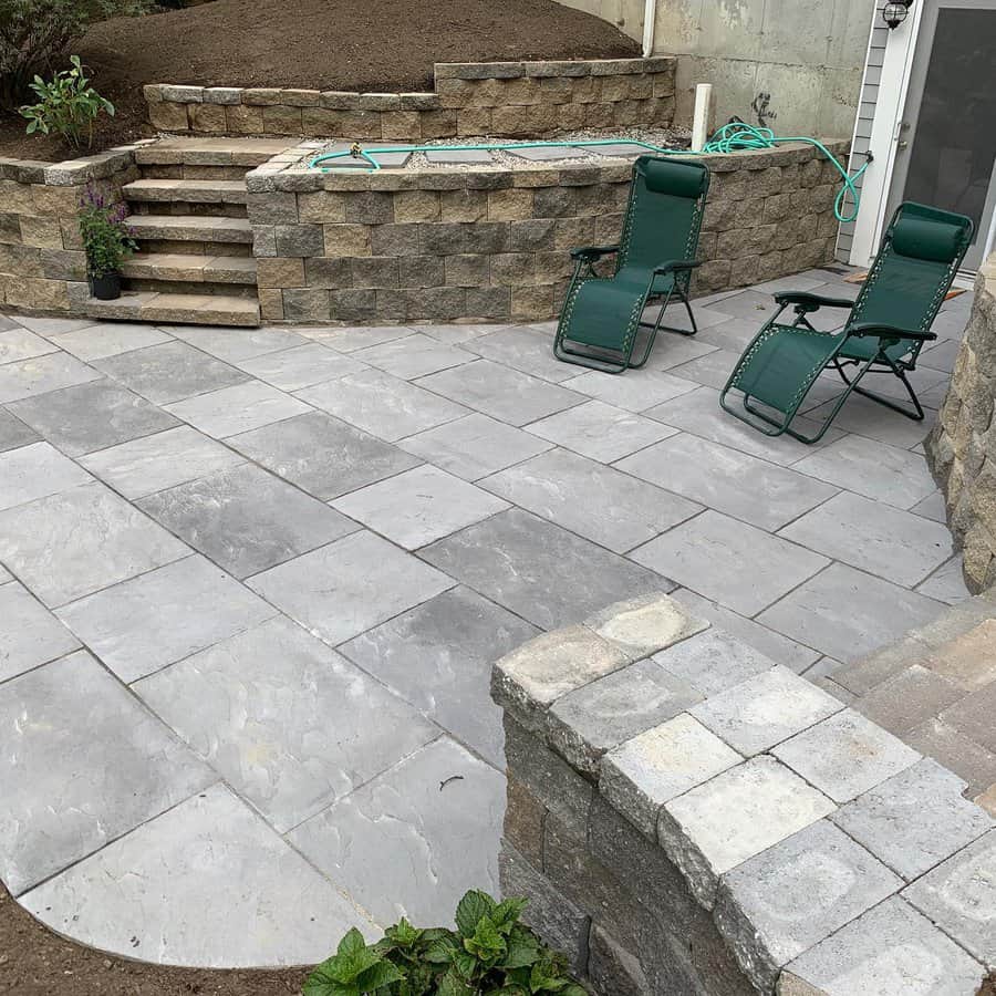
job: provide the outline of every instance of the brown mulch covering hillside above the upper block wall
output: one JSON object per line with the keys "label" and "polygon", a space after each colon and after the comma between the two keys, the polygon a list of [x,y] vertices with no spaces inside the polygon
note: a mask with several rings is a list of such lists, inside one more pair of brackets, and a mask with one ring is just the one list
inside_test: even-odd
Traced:
{"label": "brown mulch covering hillside above the upper block wall", "polygon": [[[640,54],[608,22],[554,0],[212,0],[103,21],[73,51],[117,108],[97,149],[152,134],[145,83],[430,91],[436,62]],[[23,132],[20,117],[0,117],[0,155],[72,155]]]}

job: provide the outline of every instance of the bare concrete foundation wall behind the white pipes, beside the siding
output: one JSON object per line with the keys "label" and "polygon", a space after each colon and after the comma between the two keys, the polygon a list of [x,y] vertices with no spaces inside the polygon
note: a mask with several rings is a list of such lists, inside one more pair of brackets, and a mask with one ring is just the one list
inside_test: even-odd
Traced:
{"label": "bare concrete foundation wall behind the white pipes, beside the siding", "polygon": [[[643,37],[643,0],[560,0]],[[679,55],[676,123],[712,83],[715,123],[850,137],[874,0],[657,0],[654,52]]]}

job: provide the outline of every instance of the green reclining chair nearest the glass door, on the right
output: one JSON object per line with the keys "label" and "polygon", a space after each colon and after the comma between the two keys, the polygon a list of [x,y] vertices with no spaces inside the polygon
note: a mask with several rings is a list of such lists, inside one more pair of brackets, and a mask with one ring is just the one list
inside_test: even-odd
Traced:
{"label": "green reclining chair nearest the glass door, on the right", "polygon": [[[931,324],[972,235],[972,220],[964,215],[912,201],[901,204],[854,301],[798,291],[775,294],[778,310],[737,361],[719,404],[769,436],[787,433],[802,443],[822,437],[852,391],[907,418],[922,419],[923,408],[906,374],[915,369],[923,344],[937,338],[930,331]],[[795,310],[795,321],[779,323],[778,317],[789,305]],[[847,309],[850,314],[843,328],[820,332],[807,319],[820,308]],[[790,424],[809,388],[827,369],[837,371],[847,386],[816,435],[807,436]],[[860,387],[868,373],[899,377],[912,407]],[[741,392],[747,414],[727,401],[730,391]]]}

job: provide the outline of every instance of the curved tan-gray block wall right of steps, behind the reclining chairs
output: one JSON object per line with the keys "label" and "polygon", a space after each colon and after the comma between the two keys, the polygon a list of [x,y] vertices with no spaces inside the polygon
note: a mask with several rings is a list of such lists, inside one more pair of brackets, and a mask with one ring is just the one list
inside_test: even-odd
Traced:
{"label": "curved tan-gray block wall right of steps, behind the reclining chairs", "polygon": [[[305,143],[247,176],[269,321],[540,321],[569,250],[619,240],[631,164],[309,168]],[[845,143],[831,143],[841,155]],[[704,157],[713,181],[693,288],[705,294],[833,258],[833,167],[808,146]]]}

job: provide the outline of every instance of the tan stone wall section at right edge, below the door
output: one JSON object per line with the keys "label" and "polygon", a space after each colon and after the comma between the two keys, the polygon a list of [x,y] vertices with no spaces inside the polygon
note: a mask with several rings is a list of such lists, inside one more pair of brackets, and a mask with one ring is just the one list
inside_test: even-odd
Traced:
{"label": "tan stone wall section at right edge, below the door", "polygon": [[996,584],[996,255],[975,300],[951,387],[927,439],[927,459],[947,500],[971,591]]}

